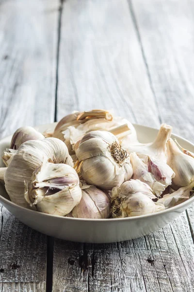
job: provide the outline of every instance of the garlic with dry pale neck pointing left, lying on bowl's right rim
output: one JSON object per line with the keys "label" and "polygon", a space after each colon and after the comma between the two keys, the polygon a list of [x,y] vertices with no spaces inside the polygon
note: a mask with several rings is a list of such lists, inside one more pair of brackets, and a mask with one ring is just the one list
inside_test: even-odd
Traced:
{"label": "garlic with dry pale neck pointing left, lying on bowl's right rim", "polygon": [[166,194],[159,199],[157,203],[162,203],[166,208],[177,206],[178,204],[187,201],[194,193],[194,182],[187,186],[180,187],[177,191]]}

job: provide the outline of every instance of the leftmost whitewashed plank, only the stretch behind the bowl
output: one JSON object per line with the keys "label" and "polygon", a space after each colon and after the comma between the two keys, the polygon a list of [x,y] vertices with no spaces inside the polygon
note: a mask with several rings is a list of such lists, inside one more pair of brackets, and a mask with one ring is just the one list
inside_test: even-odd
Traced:
{"label": "leftmost whitewashed plank, only the stretch behind the bowl", "polygon": [[53,122],[58,2],[0,0],[1,137]]}

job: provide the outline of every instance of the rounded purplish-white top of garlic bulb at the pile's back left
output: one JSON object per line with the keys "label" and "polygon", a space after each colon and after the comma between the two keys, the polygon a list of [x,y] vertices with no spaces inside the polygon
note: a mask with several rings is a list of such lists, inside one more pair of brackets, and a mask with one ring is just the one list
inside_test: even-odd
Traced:
{"label": "rounded purplish-white top of garlic bulb at the pile's back left", "polygon": [[45,137],[43,136],[43,134],[38,132],[35,128],[21,127],[21,128],[18,128],[16,132],[14,133],[10,148],[17,150],[19,146],[26,141],[42,140],[44,138]]}

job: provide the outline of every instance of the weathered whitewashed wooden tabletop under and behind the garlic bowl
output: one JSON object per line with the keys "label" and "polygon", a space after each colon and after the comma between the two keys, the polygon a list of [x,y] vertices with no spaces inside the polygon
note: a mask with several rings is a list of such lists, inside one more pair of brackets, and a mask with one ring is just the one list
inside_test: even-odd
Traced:
{"label": "weathered whitewashed wooden tabletop under and behind the garlic bowl", "polygon": [[[0,0],[0,136],[94,108],[194,142],[194,1]],[[194,291],[193,210],[150,236],[81,244],[1,206],[0,289]]]}

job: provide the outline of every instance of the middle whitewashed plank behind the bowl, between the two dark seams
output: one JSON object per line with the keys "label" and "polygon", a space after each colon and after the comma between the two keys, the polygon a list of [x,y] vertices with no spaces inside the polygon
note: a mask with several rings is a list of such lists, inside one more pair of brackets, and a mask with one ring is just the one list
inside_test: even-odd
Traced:
{"label": "middle whitewashed plank behind the bowl, between the two dark seams", "polygon": [[144,115],[146,125],[158,123],[126,0],[64,1],[57,93],[58,120],[72,110],[113,108],[132,122]]}

